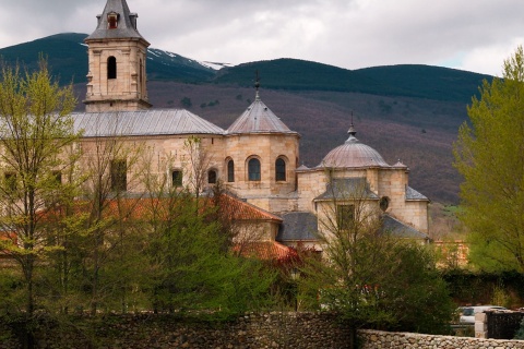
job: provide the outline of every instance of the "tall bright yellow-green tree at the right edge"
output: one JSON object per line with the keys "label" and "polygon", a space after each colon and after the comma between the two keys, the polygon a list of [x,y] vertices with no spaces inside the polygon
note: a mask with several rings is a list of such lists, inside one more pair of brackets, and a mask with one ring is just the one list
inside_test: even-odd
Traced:
{"label": "tall bright yellow-green tree at the right edge", "polygon": [[454,144],[464,177],[460,219],[469,230],[471,261],[485,270],[524,273],[524,51],[504,61],[467,109]]}

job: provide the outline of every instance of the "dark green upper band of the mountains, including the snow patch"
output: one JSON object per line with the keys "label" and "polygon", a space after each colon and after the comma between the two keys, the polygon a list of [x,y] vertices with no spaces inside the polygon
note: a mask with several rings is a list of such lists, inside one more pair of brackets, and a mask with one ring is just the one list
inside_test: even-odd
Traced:
{"label": "dark green upper band of the mountains, including the snow patch", "polygon": [[[38,55],[48,58],[51,70],[64,83],[86,82],[86,34],[66,33],[0,49],[0,57],[11,64],[37,67]],[[390,65],[347,70],[298,59],[275,59],[228,67],[200,62],[183,56],[150,48],[150,81],[213,83],[252,86],[255,71],[265,88],[285,91],[349,92],[381,96],[404,96],[433,100],[468,103],[484,79],[491,76],[431,65]]]}

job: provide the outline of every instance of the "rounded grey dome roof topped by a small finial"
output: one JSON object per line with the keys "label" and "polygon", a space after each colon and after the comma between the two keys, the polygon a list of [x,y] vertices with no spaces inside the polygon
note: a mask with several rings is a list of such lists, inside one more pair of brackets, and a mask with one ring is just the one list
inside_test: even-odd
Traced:
{"label": "rounded grey dome roof topped by a small finial", "polygon": [[349,139],[343,145],[327,153],[318,167],[390,167],[376,149],[360,143],[355,137],[356,132],[353,124],[348,133]]}

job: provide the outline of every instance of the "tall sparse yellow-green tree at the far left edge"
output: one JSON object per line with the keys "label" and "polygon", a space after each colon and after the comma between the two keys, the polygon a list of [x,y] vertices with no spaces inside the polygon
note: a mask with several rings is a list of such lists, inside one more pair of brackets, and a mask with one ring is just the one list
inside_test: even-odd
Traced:
{"label": "tall sparse yellow-green tree at the far left edge", "polygon": [[71,112],[72,86],[60,87],[45,60],[39,70],[21,73],[3,67],[0,81],[0,250],[20,267],[25,286],[25,311],[37,306],[36,277],[50,251],[63,249],[48,229],[48,213],[69,202],[78,183],[62,173],[75,166]]}

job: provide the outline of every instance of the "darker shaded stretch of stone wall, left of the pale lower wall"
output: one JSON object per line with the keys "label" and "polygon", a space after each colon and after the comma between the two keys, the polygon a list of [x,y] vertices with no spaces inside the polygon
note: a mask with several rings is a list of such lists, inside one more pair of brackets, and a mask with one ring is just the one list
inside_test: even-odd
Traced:
{"label": "darker shaded stretch of stone wall, left of the pale lower wall", "polygon": [[[350,338],[333,315],[315,313],[247,314],[222,324],[155,314],[82,316],[38,328],[39,349],[318,349],[348,348]],[[0,340],[0,349],[21,348],[17,340]]]}

